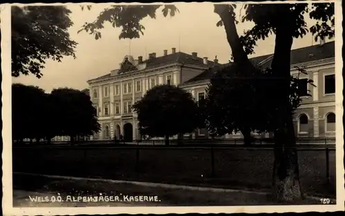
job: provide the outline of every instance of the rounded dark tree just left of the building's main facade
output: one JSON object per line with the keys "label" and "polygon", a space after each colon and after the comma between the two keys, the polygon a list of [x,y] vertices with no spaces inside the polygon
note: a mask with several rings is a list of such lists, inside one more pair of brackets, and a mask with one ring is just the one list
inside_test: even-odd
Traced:
{"label": "rounded dark tree just left of the building's main facade", "polygon": [[93,135],[101,126],[97,122],[96,110],[90,97],[80,90],[58,88],[51,92],[58,108],[55,116],[57,135],[70,136],[71,142],[77,135]]}

